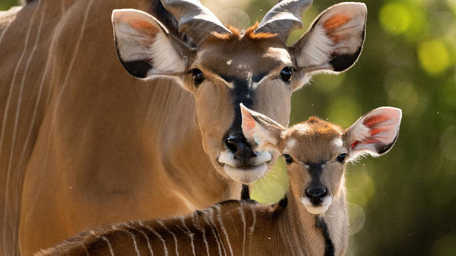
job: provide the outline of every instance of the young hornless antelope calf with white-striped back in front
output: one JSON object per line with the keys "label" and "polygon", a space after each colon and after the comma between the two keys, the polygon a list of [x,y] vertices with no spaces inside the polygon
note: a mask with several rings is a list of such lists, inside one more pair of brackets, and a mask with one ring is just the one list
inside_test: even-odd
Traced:
{"label": "young hornless antelope calf with white-striped back in front", "polygon": [[348,129],[316,117],[289,129],[242,105],[242,131],[280,151],[290,188],[279,203],[224,201],[190,216],[98,228],[37,255],[344,255],[344,171],[363,154],[385,154],[402,112],[380,107]]}

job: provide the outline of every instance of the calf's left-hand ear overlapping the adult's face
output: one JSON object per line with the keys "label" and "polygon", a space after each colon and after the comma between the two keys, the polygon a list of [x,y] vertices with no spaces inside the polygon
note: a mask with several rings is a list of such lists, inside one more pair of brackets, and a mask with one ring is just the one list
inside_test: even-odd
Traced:
{"label": "calf's left-hand ear overlapping the adult's face", "polygon": [[254,141],[260,149],[279,149],[280,135],[285,127],[264,114],[249,110],[242,103],[242,133],[248,141]]}

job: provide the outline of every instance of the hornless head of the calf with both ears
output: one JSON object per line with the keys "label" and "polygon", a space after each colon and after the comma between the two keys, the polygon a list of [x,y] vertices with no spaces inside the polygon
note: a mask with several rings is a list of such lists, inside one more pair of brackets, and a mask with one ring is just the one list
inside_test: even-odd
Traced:
{"label": "hornless head of the calf with both ears", "polygon": [[346,163],[359,156],[380,156],[398,137],[402,111],[379,107],[363,115],[350,128],[310,117],[286,129],[281,124],[242,107],[242,130],[247,140],[282,153],[294,198],[311,214],[323,214],[344,186]]}

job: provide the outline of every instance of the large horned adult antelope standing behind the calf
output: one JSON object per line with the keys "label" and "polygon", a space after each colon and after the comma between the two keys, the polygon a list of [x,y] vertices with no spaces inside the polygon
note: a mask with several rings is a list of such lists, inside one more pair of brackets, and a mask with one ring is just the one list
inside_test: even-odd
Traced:
{"label": "large horned adult antelope standing behind the calf", "polygon": [[[0,251],[239,198],[276,159],[242,137],[239,103],[286,125],[294,90],[361,52],[355,3],[287,47],[310,4],[281,1],[244,33],[196,0],[36,0],[0,14]],[[120,60],[154,79],[120,65],[121,8],[145,12],[115,11]]]}

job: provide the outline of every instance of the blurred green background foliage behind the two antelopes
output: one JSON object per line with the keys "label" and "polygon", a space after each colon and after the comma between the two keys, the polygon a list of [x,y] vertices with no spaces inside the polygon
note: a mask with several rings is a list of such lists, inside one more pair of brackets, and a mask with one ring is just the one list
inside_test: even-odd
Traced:
{"label": "blurred green background foliage behind the two antelopes", "polygon": [[[261,20],[274,0],[202,1],[238,28]],[[315,0],[304,28],[339,1]],[[400,136],[379,159],[348,166],[351,215],[347,255],[456,255],[456,0],[375,0],[358,63],[315,75],[294,93],[291,122],[317,115],[348,127],[380,106],[403,110]],[[0,0],[0,9],[15,5]],[[271,203],[287,187],[283,161],[252,196]]]}

